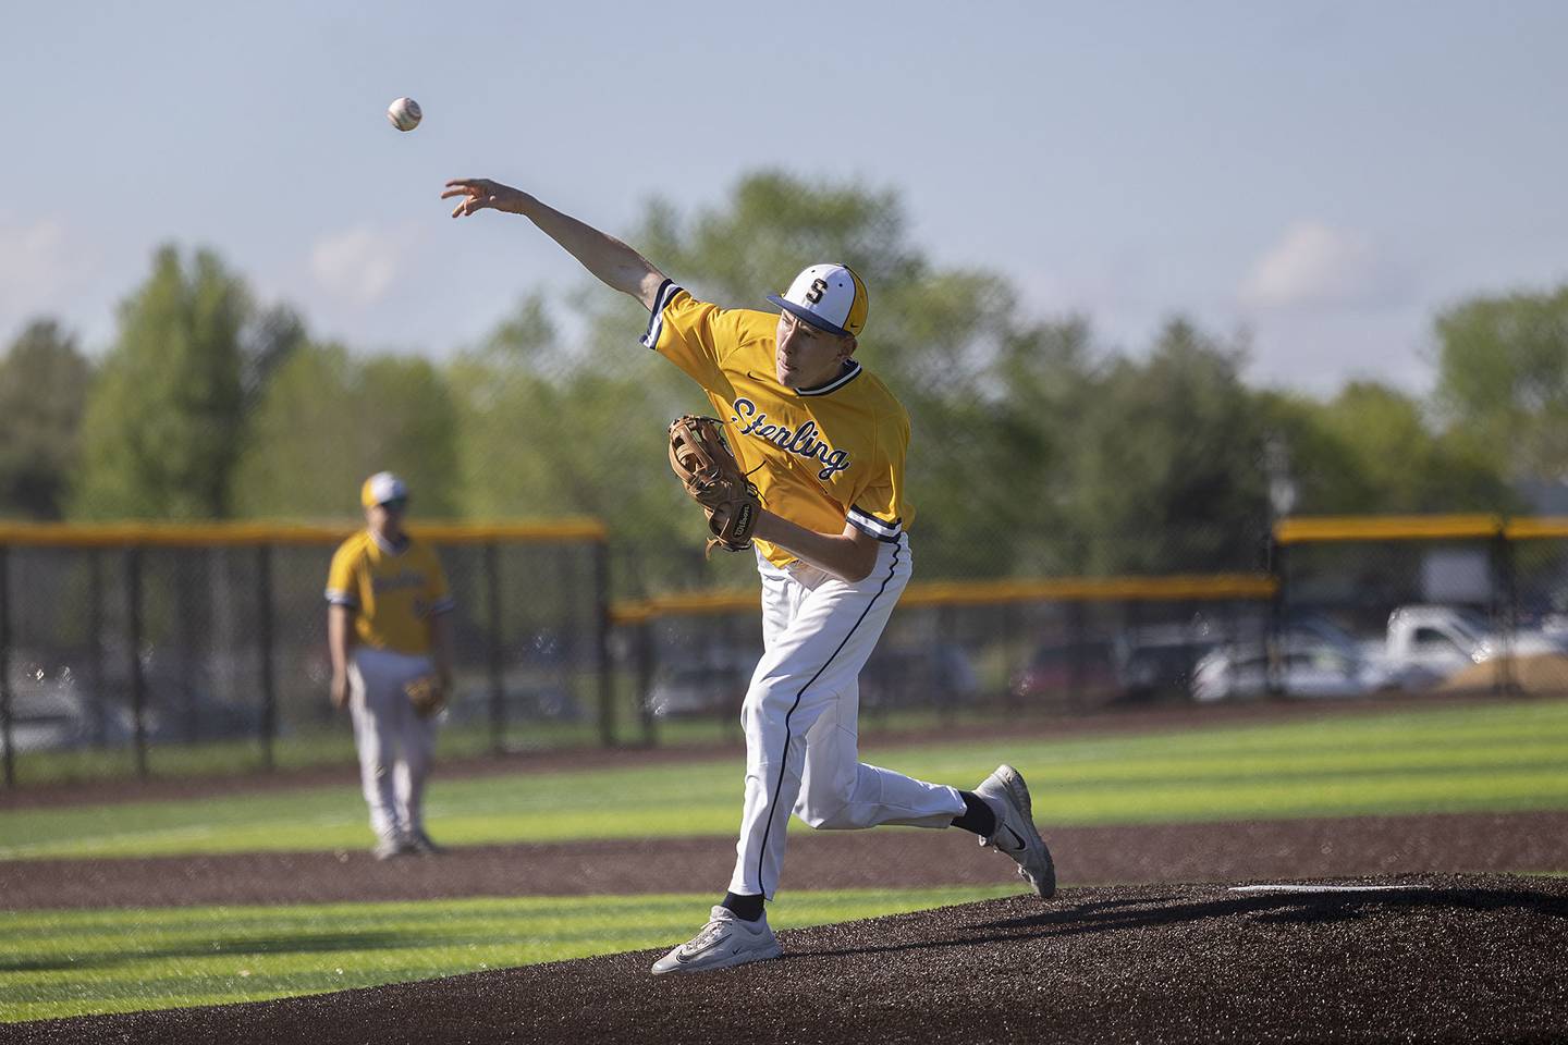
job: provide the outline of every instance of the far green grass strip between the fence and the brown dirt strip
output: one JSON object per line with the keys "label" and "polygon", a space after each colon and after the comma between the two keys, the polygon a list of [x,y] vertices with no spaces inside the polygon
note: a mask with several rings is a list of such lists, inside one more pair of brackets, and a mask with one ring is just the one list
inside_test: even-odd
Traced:
{"label": "far green grass strip between the fence and the brown dirt strip", "polygon": [[[1568,808],[1568,700],[1082,739],[866,752],[903,772],[978,783],[1000,758],[1051,824]],[[351,780],[351,771],[345,772]],[[726,835],[737,757],[442,780],[428,819],[450,844]],[[590,824],[591,823],[591,829]],[[353,783],[183,802],[0,813],[0,859],[358,849]]]}

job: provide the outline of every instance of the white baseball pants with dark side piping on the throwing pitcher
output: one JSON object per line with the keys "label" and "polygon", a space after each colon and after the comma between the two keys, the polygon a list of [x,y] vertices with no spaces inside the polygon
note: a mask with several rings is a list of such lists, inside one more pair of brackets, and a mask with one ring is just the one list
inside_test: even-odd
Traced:
{"label": "white baseball pants with dark side piping on the throwing pitcher", "polygon": [[746,802],[729,891],[773,899],[793,812],[812,827],[947,827],[964,812],[950,786],[859,761],[859,674],[909,583],[909,539],[886,542],[850,584],[804,562],[757,556],[764,655],[740,711]]}

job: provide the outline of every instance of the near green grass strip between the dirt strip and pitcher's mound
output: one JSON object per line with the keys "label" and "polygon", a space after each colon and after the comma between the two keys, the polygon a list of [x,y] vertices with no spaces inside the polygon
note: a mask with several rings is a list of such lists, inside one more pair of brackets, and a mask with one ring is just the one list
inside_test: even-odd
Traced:
{"label": "near green grass strip between the dirt strip and pitcher's mound", "polygon": [[[776,929],[1016,891],[781,895]],[[260,1001],[671,946],[709,895],[409,904],[28,910],[0,915],[0,1020]]]}

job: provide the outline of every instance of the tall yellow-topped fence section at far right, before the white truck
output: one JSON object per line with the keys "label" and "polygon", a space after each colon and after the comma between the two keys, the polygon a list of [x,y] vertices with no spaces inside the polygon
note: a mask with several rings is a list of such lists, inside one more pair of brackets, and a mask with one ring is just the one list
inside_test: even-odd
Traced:
{"label": "tall yellow-topped fence section at far right, before the white truck", "polygon": [[1565,522],[1286,520],[1275,689],[1568,694]]}

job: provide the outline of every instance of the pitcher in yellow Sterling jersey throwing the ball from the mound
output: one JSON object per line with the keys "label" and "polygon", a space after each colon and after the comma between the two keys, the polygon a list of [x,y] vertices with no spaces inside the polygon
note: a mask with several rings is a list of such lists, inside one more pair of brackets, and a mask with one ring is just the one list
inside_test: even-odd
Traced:
{"label": "pitcher in yellow Sterling jersey throwing the ball from the mound", "polygon": [[742,708],[746,788],[729,890],[702,931],[652,971],[779,954],[764,904],[779,884],[790,813],[820,829],[963,827],[1051,896],[1055,870],[1016,769],[1002,765],[960,791],[858,757],[858,677],[909,581],[914,517],[903,484],[909,418],[855,360],[869,302],[859,276],[812,265],[768,298],[778,313],[723,309],[519,190],[459,179],[442,197],[458,199],[453,218],[486,208],[528,218],[602,282],[643,302],[641,343],[702,387],[734,456],[724,464],[693,418],[671,426],[671,464],[707,512],[709,533],[724,547],[756,548],[765,652]]}

